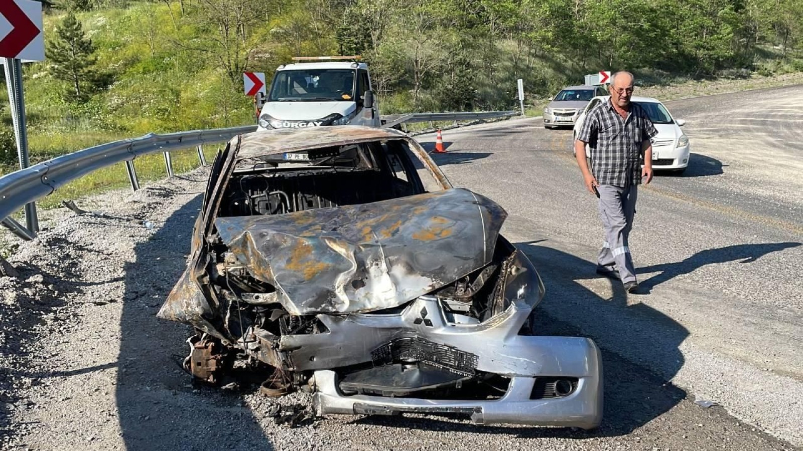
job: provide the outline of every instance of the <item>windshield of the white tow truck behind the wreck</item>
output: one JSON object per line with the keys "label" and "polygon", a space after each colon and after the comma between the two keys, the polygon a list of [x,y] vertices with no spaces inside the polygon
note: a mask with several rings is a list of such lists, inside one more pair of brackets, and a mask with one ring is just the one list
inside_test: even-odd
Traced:
{"label": "windshield of the white tow truck behind the wreck", "polygon": [[278,71],[268,102],[354,101],[356,72],[349,69]]}

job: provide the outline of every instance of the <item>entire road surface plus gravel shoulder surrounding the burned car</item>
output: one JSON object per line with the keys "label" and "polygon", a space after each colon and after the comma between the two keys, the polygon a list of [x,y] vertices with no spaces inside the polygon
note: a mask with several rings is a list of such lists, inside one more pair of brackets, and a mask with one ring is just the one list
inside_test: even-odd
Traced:
{"label": "entire road surface plus gravel shoulder surrounding the burned car", "polygon": [[694,155],[683,177],[640,190],[641,295],[594,274],[601,222],[569,130],[525,119],[444,132],[435,160],[507,209],[503,233],[544,278],[540,333],[600,345],[599,429],[303,415],[291,428],[275,412],[303,410],[306,395],[192,386],[187,328],[155,314],[185,268],[196,171],[80,202],[100,214],[51,211],[9,258],[22,276],[0,278],[0,449],[799,449],[801,103],[803,89],[785,88],[667,104]]}

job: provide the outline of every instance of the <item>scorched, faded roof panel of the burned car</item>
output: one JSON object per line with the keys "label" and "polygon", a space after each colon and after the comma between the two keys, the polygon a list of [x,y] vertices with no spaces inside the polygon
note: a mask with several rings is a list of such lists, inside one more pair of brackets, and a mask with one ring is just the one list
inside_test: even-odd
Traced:
{"label": "scorched, faded roof panel of the burned car", "polygon": [[[234,144],[238,138],[231,142]],[[392,128],[365,125],[332,125],[309,128],[279,128],[239,136],[240,148],[236,158],[252,158],[305,148],[321,148],[367,141],[409,140],[403,132]]]}

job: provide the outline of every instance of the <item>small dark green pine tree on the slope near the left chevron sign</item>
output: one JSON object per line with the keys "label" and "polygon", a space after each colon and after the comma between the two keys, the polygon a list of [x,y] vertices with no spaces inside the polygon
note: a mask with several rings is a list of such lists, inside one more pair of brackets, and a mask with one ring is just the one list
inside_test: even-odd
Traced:
{"label": "small dark green pine tree on the slope near the left chevron sign", "polygon": [[95,73],[95,47],[81,28],[81,22],[72,11],[55,27],[56,39],[47,43],[49,71],[53,78],[71,83],[70,95],[75,100],[86,100],[88,85],[92,85]]}

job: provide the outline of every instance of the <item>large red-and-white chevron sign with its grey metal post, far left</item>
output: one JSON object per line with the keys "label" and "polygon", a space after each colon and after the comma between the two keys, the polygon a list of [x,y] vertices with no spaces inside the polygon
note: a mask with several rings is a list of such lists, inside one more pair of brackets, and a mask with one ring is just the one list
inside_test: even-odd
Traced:
{"label": "large red-and-white chevron sign with its grey metal post, far left", "polygon": [[[25,124],[25,97],[22,95],[22,61],[43,61],[45,43],[42,33],[42,3],[34,0],[3,0],[0,2],[0,59],[6,73],[6,87],[14,122],[14,136],[20,169],[30,165],[28,136]],[[3,218],[0,218],[3,219]],[[27,231],[39,231],[36,204],[25,205]]]}

